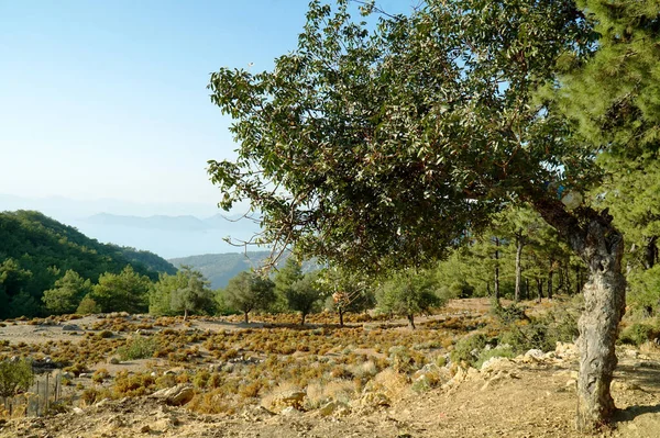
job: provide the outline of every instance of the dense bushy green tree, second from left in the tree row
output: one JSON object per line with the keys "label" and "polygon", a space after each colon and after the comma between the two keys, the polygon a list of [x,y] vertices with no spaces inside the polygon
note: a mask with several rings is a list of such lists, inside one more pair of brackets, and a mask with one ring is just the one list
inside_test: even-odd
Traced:
{"label": "dense bushy green tree, second from left in the tree row", "polygon": [[102,312],[141,313],[147,310],[151,287],[146,276],[140,276],[131,265],[127,265],[120,273],[101,274],[90,297],[101,306]]}

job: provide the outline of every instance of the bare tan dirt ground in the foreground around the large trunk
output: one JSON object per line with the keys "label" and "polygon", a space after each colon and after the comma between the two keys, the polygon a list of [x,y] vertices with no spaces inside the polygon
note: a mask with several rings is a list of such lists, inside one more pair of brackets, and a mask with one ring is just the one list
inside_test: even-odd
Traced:
{"label": "bare tan dirt ground in the foreground around the large trunk", "polygon": [[[466,304],[454,304],[453,310]],[[73,323],[82,327],[94,319]],[[242,328],[229,322],[204,324],[208,327],[202,329]],[[61,328],[40,328],[8,325],[0,329],[0,339],[37,342],[58,336],[81,337],[64,335]],[[622,348],[617,353],[613,395],[620,411],[612,427],[597,436],[659,437],[660,351]],[[275,415],[256,406],[232,416],[201,415],[150,397],[107,400],[51,417],[0,423],[0,438],[582,437],[573,428],[575,371],[575,357],[517,358],[494,370],[472,369],[448,388],[408,391],[391,406],[355,407],[349,414],[327,417],[319,411]]]}

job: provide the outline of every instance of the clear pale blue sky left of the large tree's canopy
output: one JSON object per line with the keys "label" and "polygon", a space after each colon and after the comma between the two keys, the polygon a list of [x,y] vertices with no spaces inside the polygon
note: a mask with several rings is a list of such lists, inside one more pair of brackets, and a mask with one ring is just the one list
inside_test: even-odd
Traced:
{"label": "clear pale blue sky left of the large tree's canopy", "polygon": [[217,202],[206,161],[235,145],[208,75],[270,69],[307,4],[0,0],[0,193]]}

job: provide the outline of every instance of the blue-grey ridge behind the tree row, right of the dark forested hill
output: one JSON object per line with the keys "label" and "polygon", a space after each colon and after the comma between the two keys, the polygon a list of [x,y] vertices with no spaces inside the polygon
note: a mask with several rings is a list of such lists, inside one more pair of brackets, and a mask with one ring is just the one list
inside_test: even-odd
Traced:
{"label": "blue-grey ridge behind the tree row, right of the dark forested hill", "polygon": [[[210,282],[212,289],[224,288],[229,280],[239,272],[258,268],[271,256],[271,251],[205,254],[201,256],[180,257],[168,261],[180,268],[183,265],[193,267],[201,272]],[[283,266],[288,256],[284,256],[277,266]],[[314,271],[320,267],[316,261],[305,261],[302,272]]]}

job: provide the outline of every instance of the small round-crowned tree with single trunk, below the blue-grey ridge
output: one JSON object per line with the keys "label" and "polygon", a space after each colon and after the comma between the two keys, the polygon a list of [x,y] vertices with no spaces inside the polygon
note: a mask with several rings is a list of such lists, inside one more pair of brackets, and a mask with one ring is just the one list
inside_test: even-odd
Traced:
{"label": "small round-crowned tree with single trunk, below the blue-grey ridge", "polygon": [[229,280],[224,289],[224,302],[244,315],[245,324],[250,323],[249,314],[255,310],[265,310],[275,300],[275,284],[254,272],[243,271]]}

